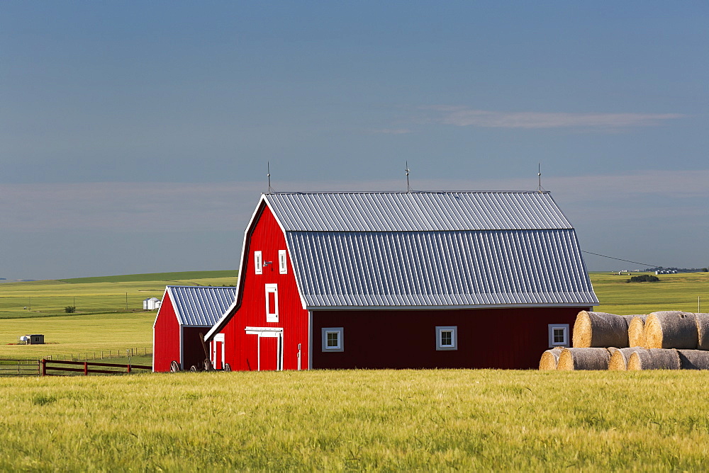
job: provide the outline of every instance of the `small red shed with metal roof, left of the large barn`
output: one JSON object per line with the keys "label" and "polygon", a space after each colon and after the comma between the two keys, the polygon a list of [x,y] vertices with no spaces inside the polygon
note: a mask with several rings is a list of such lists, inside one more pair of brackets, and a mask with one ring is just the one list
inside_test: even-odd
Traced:
{"label": "small red shed with metal roof, left of the large barn", "polygon": [[176,361],[181,370],[203,367],[206,334],[234,302],[235,287],[167,286],[152,326],[152,370]]}

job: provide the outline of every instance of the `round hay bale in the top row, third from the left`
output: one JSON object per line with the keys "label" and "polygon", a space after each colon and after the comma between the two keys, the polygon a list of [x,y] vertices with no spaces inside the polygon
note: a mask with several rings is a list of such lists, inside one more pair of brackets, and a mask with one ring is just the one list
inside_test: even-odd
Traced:
{"label": "round hay bale in the top row, third from the left", "polygon": [[652,312],[645,320],[647,348],[695,349],[699,341],[697,318],[691,312]]}

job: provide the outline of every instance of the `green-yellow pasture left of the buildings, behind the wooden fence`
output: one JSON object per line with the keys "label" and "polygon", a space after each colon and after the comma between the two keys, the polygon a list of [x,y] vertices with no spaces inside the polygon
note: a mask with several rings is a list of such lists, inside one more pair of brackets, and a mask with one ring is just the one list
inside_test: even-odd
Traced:
{"label": "green-yellow pasture left of the buildings, behind the wooden fence", "polygon": [[[101,281],[46,280],[0,285],[0,358],[100,358],[101,351],[152,352],[157,311],[143,311],[147,297],[162,299],[166,285],[233,285],[236,271],[196,271],[97,278]],[[181,279],[182,278],[182,279]],[[128,280],[125,280],[128,279]],[[72,282],[67,282],[72,281]],[[128,293],[129,311],[125,311]],[[31,306],[30,306],[31,304]],[[64,307],[75,305],[67,314]],[[23,309],[27,306],[28,309]],[[31,307],[31,309],[29,309]],[[15,345],[18,336],[43,334],[45,345]],[[10,345],[9,343],[13,343]],[[104,353],[105,355],[105,353]]]}

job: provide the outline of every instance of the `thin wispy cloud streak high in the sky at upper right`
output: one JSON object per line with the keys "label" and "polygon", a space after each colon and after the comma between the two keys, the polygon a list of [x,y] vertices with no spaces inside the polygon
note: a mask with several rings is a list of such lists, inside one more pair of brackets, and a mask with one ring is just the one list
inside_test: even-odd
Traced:
{"label": "thin wispy cloud streak high in the sky at upper right", "polygon": [[665,120],[683,118],[679,113],[546,113],[496,112],[463,106],[433,106],[440,116],[433,121],[458,127],[496,128],[625,128],[656,126]]}

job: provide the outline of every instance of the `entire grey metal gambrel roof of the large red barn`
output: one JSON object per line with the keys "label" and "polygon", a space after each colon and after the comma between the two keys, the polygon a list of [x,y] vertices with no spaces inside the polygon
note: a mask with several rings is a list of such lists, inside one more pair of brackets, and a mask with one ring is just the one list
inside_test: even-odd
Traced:
{"label": "entire grey metal gambrel roof of the large red barn", "polygon": [[308,308],[597,305],[548,192],[264,195]]}

